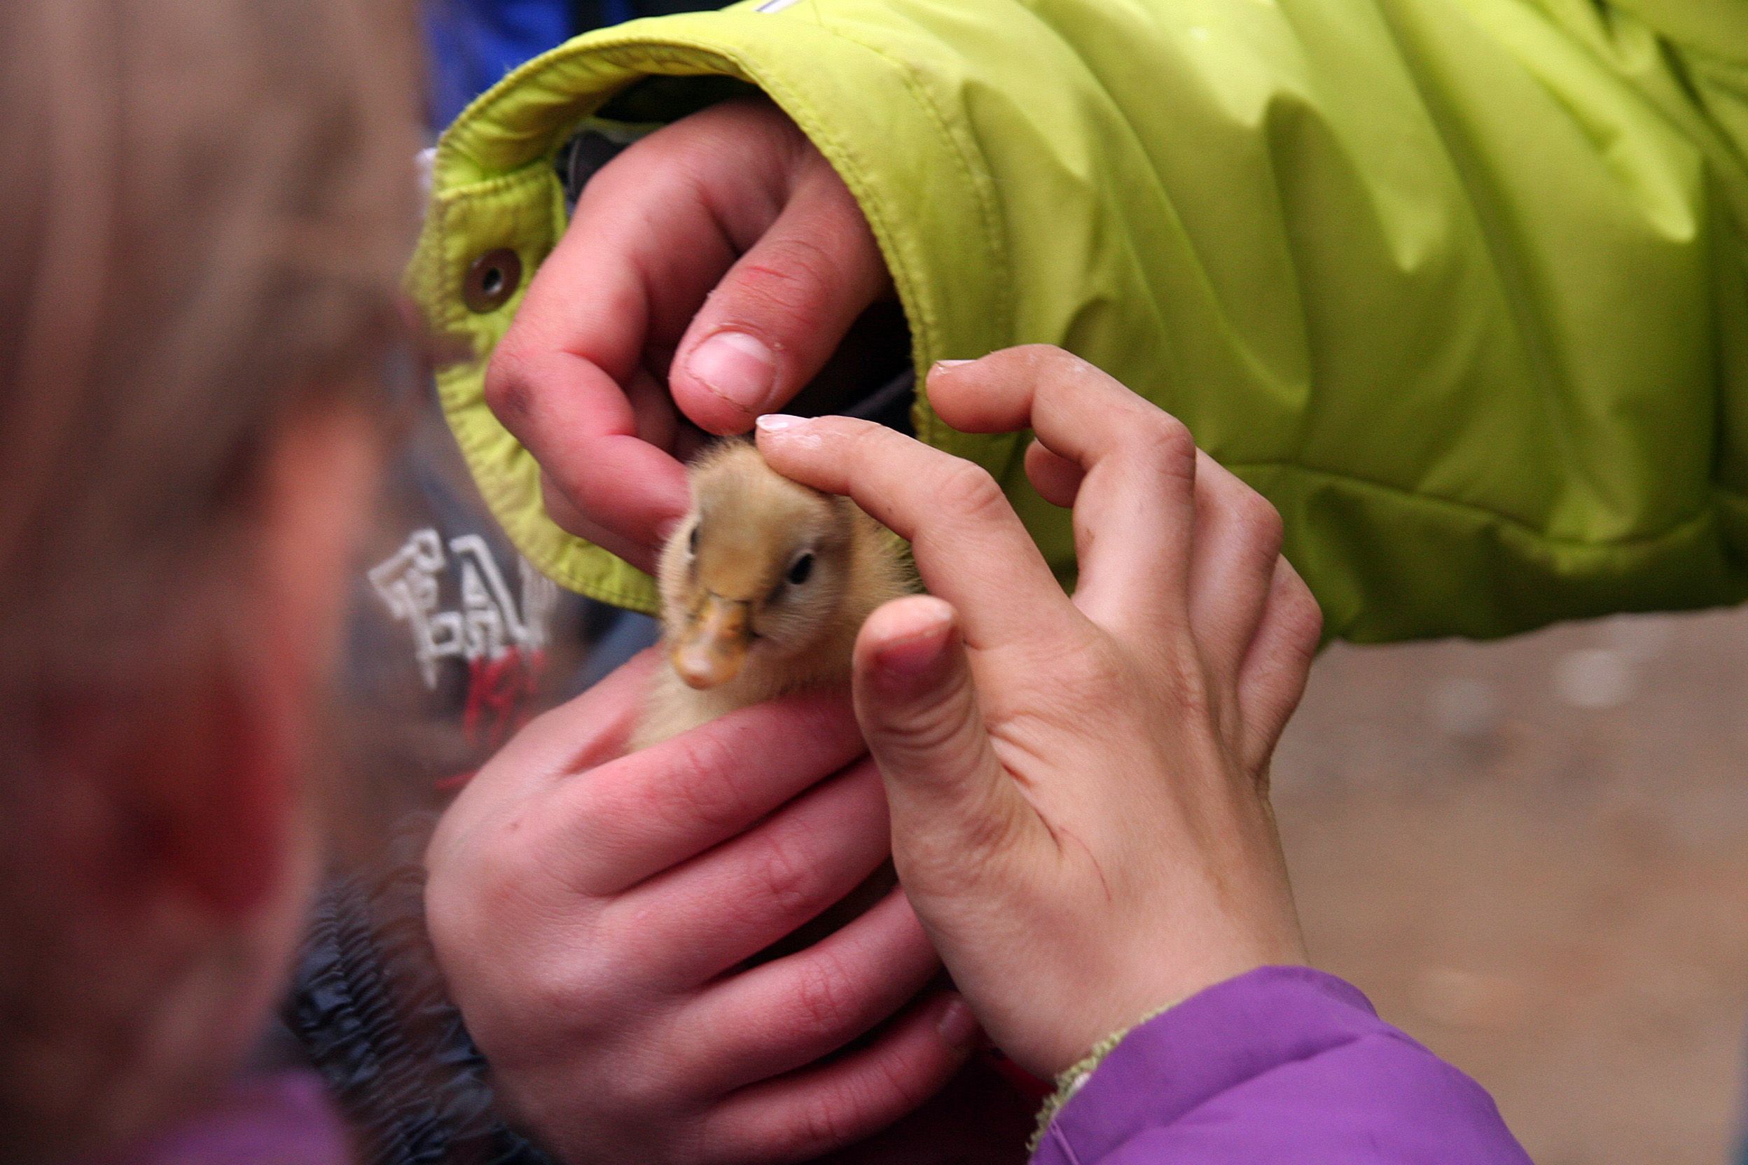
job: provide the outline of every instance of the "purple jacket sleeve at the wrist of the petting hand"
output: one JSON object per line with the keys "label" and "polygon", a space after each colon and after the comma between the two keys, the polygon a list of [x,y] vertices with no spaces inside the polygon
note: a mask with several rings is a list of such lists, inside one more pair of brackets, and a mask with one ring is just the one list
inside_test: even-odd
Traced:
{"label": "purple jacket sleeve at the wrist of the petting hand", "polygon": [[1262,968],[1129,1032],[1037,1165],[1530,1165],[1493,1099],[1309,968]]}

